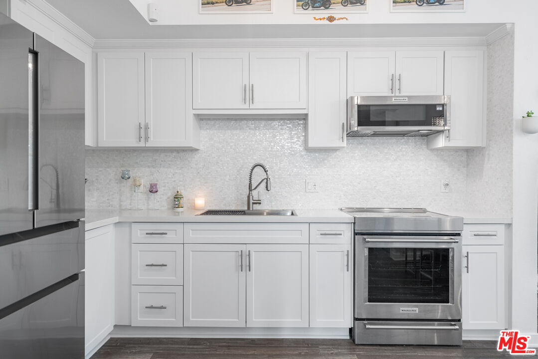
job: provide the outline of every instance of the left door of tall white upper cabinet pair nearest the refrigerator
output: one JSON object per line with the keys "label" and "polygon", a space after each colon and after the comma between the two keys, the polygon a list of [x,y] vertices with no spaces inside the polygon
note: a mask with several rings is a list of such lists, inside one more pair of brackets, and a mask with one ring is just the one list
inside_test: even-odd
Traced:
{"label": "left door of tall white upper cabinet pair nearest the refrigerator", "polygon": [[97,54],[98,145],[144,146],[144,53]]}

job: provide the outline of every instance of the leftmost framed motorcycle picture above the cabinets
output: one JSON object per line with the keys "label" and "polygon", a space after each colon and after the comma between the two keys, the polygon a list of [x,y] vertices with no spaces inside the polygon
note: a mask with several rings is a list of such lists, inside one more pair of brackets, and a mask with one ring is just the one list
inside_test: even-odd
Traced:
{"label": "leftmost framed motorcycle picture above the cabinets", "polygon": [[199,0],[200,13],[272,13],[273,0]]}

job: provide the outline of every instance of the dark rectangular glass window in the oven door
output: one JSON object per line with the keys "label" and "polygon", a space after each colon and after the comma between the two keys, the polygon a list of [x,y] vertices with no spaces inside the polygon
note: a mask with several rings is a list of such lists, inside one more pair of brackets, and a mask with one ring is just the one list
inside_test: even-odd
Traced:
{"label": "dark rectangular glass window in the oven door", "polygon": [[450,303],[449,248],[368,250],[368,302]]}

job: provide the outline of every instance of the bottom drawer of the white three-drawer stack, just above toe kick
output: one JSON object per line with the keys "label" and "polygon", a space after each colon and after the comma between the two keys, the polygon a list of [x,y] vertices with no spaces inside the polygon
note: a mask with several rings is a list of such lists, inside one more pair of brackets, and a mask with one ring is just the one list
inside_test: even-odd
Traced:
{"label": "bottom drawer of the white three-drawer stack, just above toe kick", "polygon": [[183,287],[133,285],[131,325],[138,327],[182,327]]}

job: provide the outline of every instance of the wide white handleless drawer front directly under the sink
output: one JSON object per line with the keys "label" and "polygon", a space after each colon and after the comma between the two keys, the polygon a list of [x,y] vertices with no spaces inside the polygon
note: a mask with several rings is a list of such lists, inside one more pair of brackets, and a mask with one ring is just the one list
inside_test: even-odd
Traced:
{"label": "wide white handleless drawer front directly under the sink", "polygon": [[308,244],[308,223],[185,223],[185,243]]}

